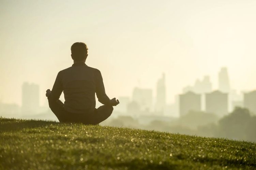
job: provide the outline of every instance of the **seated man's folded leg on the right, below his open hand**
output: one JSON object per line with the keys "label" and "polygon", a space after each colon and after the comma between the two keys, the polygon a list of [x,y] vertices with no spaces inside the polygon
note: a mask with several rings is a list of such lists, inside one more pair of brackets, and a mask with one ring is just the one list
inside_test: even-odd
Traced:
{"label": "seated man's folded leg on the right, below his open hand", "polygon": [[91,124],[99,124],[100,122],[106,120],[113,112],[113,106],[103,105],[95,109],[92,114]]}

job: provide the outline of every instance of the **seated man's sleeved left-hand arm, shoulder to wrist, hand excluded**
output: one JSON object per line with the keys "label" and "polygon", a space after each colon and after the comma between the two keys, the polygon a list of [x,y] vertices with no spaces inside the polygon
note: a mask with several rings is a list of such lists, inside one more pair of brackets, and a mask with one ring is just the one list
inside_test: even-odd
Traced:
{"label": "seated man's sleeved left-hand arm, shoulder to wrist, hand excluded", "polygon": [[49,106],[60,98],[62,91],[63,87],[61,82],[61,73],[59,72],[52,87],[51,93],[48,96]]}

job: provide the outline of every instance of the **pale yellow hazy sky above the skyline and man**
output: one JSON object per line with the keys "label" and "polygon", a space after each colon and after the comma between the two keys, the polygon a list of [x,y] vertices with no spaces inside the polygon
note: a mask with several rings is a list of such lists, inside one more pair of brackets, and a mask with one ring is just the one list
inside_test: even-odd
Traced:
{"label": "pale yellow hazy sky above the skyline and man", "polygon": [[89,48],[108,96],[152,88],[166,73],[167,101],[195,79],[228,67],[232,88],[256,87],[255,0],[0,0],[0,100],[21,103],[21,85],[40,85],[40,101],[70,47]]}

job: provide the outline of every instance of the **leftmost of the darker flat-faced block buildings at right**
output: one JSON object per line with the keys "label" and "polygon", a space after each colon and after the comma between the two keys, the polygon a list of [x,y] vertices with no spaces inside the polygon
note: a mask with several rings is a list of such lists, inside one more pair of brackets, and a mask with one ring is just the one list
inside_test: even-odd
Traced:
{"label": "leftmost of the darker flat-faced block buildings at right", "polygon": [[201,95],[192,91],[179,96],[180,116],[184,116],[190,111],[201,111]]}

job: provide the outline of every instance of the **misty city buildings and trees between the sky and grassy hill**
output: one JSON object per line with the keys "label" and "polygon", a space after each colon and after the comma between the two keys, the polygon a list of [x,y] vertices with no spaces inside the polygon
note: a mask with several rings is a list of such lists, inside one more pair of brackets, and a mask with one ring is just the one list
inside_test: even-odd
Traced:
{"label": "misty city buildings and trees between the sky and grassy hill", "polygon": [[[227,67],[220,68],[216,74],[217,88],[213,88],[213,81],[206,75],[184,86],[182,93],[174,96],[175,102],[168,103],[166,75],[162,73],[155,89],[135,86],[130,96],[119,96],[120,104],[101,125],[256,141],[256,91],[232,89]],[[48,103],[39,104],[38,84],[24,82],[21,89],[21,106],[1,102],[1,116],[58,121]],[[96,106],[100,105],[97,101]],[[238,130],[234,132],[234,129]]]}

